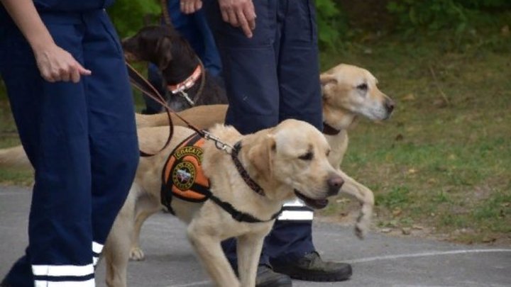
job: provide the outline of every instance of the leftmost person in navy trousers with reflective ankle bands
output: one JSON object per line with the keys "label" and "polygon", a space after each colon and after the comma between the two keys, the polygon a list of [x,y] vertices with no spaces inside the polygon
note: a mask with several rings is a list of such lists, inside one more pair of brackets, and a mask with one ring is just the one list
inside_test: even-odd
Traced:
{"label": "leftmost person in navy trousers with reflective ankle bands", "polygon": [[0,0],[0,75],[35,170],[26,254],[1,286],[94,286],[138,165],[111,0]]}

